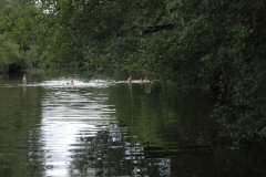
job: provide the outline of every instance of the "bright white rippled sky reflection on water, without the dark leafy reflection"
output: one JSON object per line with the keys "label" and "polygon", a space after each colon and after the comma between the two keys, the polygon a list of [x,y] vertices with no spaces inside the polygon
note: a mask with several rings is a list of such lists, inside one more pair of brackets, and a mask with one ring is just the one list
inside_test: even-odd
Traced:
{"label": "bright white rippled sky reflection on water, without the dark leafy reflection", "polygon": [[84,142],[81,139],[95,137],[99,132],[116,126],[117,121],[110,116],[115,107],[105,104],[108,94],[98,88],[105,86],[101,81],[92,83],[90,87],[80,82],[75,82],[74,87],[57,88],[54,82],[44,85],[53,85],[47,88],[42,101],[41,140],[49,157],[45,164],[52,167],[45,173],[48,176],[80,174],[72,167],[73,152],[82,150]]}

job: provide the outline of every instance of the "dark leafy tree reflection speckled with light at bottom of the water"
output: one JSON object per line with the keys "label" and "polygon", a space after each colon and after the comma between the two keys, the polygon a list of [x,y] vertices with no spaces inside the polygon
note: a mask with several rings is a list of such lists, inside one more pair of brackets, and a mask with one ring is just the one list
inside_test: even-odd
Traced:
{"label": "dark leafy tree reflection speckled with light at bottom of the water", "polygon": [[170,159],[145,158],[140,144],[126,142],[126,128],[98,132],[95,137],[80,137],[82,146],[73,149],[71,175],[168,176]]}

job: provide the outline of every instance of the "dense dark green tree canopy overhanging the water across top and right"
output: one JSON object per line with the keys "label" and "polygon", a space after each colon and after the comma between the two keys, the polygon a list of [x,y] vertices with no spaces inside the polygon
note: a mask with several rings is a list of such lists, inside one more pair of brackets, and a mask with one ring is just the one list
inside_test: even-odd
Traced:
{"label": "dense dark green tree canopy overhanging the water across top and right", "polygon": [[0,50],[12,49],[10,58],[0,54],[1,62],[17,58],[18,44],[51,71],[66,64],[92,72],[146,69],[153,79],[218,91],[221,135],[236,143],[265,137],[263,0],[11,2],[1,1],[8,6],[0,9],[7,41]]}

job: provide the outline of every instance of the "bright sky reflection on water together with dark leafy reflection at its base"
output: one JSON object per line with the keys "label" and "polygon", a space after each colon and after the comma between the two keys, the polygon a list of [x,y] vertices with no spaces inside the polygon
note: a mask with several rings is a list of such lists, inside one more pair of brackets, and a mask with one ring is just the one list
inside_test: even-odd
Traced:
{"label": "bright sky reflection on water together with dark leafy reflection at its base", "polygon": [[144,176],[154,169],[156,176],[170,175],[170,159],[145,159],[143,145],[133,143],[129,127],[119,125],[105,87],[124,82],[63,83],[42,84],[47,94],[42,97],[40,142],[45,176]]}

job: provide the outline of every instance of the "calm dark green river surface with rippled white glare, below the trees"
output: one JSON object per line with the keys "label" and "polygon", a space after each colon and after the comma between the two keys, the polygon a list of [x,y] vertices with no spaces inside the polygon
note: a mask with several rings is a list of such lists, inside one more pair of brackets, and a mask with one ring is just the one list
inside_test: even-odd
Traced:
{"label": "calm dark green river surface with rippled white glare, below the trees", "polygon": [[[0,75],[0,176],[260,176],[265,153],[213,148],[217,124],[203,91],[161,87],[143,73],[88,80],[40,70]],[[74,85],[65,83],[74,77]]]}

